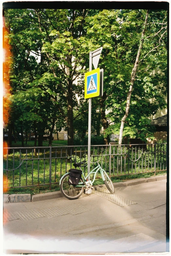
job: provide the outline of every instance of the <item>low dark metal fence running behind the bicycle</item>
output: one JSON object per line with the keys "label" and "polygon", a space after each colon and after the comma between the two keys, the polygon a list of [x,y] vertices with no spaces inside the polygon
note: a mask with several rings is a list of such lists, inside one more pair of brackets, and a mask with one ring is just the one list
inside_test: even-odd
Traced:
{"label": "low dark metal fence running behind the bicycle", "polygon": [[[87,160],[88,146],[4,148],[4,187],[31,187],[57,184],[75,156]],[[167,144],[92,145],[92,161],[100,159],[110,176],[165,171]],[[91,164],[91,169],[95,164]],[[84,173],[87,168],[83,168]],[[99,177],[97,177],[99,178]]]}

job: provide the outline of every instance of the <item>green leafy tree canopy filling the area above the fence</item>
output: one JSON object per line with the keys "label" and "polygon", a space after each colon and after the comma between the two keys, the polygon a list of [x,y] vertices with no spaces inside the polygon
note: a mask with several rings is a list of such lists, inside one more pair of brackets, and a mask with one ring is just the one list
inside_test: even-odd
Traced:
{"label": "green leafy tree canopy filling the area above the fence", "polygon": [[[42,134],[51,129],[55,117],[59,130],[63,125],[74,127],[83,138],[88,128],[84,74],[89,70],[89,52],[102,46],[98,67],[104,69],[106,117],[114,123],[105,136],[118,134],[145,14],[146,10],[126,9],[6,9],[13,52],[9,99],[14,126],[23,121],[24,130],[29,127]],[[124,136],[152,139],[148,117],[166,107],[166,22],[166,11],[150,10]],[[92,105],[95,134],[101,128],[98,97]]]}

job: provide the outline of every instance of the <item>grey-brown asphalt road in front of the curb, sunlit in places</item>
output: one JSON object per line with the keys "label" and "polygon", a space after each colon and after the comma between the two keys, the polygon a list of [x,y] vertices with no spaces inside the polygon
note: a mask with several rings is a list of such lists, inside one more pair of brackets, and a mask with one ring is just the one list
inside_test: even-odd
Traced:
{"label": "grey-brown asphalt road in front of the curb, sunlit in places", "polygon": [[133,204],[121,207],[105,193],[5,203],[4,253],[165,252],[166,180],[115,194]]}

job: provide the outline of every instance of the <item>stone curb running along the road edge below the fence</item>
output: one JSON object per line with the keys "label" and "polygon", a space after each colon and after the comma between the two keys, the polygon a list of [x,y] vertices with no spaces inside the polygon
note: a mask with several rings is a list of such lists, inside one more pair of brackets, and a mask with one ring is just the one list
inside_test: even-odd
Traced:
{"label": "stone curb running along the road edge below the fence", "polygon": [[[115,188],[117,187],[128,187],[133,185],[138,185],[141,183],[146,182],[152,182],[152,181],[162,181],[167,179],[167,174],[159,175],[159,176],[153,176],[149,178],[140,178],[125,182],[114,182],[113,185]],[[103,187],[105,184],[101,185],[95,185],[94,190],[97,190],[97,187]],[[89,194],[88,194],[89,195]],[[85,194],[82,194],[82,196],[86,196]],[[23,203],[23,202],[36,202],[36,201],[43,201],[48,199],[54,199],[54,198],[60,198],[63,197],[62,193],[60,191],[54,191],[54,192],[48,192],[48,193],[42,193],[42,194],[4,194],[4,203]]]}

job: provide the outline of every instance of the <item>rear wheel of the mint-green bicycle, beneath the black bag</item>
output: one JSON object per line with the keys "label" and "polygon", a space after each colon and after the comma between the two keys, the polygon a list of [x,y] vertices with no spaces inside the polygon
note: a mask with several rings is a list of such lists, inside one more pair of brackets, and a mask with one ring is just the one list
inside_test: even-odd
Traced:
{"label": "rear wheel of the mint-green bicycle, beneath the black bag", "polygon": [[[81,178],[79,182],[83,182]],[[64,195],[64,197],[74,200],[79,198],[84,192],[84,187],[75,187],[69,184],[69,173],[64,176],[60,183],[60,191]]]}

